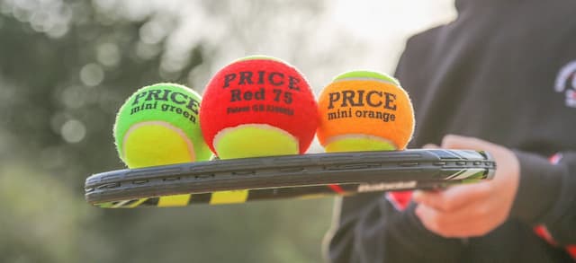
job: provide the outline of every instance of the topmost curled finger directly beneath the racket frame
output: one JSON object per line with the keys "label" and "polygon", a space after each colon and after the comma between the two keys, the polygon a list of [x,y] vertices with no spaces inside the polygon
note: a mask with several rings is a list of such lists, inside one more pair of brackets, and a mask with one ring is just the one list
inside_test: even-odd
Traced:
{"label": "topmost curled finger directly beneath the racket frame", "polygon": [[433,207],[442,212],[455,212],[478,200],[490,197],[491,188],[486,183],[461,185],[443,191],[415,191],[412,195],[416,203]]}

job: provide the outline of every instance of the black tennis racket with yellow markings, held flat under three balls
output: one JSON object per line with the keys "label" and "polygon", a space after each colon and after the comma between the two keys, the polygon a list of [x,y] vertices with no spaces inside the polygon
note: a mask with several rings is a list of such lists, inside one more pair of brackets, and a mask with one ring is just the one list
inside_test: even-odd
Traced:
{"label": "black tennis racket with yellow markings, held flat under three balls", "polygon": [[132,208],[350,196],[490,180],[495,169],[489,153],[469,150],[311,153],[107,171],[85,180],[85,198]]}

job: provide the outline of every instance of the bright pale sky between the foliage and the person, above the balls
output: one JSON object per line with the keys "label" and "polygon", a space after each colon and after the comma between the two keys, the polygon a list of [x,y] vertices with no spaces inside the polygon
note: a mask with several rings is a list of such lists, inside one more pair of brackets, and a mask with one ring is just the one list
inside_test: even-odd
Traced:
{"label": "bright pale sky between the foliage and the person, above the balls", "polygon": [[[348,70],[392,74],[410,35],[455,19],[454,0],[327,1],[316,15],[297,6],[270,11],[278,7],[271,4],[262,9],[274,14],[262,17],[253,14],[257,6],[245,4],[247,1],[230,1],[227,10],[220,7],[208,14],[197,12],[196,2],[172,7],[182,12],[185,22],[169,42],[174,44],[173,57],[182,57],[175,50],[190,46],[185,43],[194,39],[211,41],[221,48],[211,57],[211,65],[192,73],[193,85],[200,87],[206,76],[230,61],[257,54],[293,64],[309,78],[317,93],[333,76]],[[229,36],[230,32],[237,35]]]}

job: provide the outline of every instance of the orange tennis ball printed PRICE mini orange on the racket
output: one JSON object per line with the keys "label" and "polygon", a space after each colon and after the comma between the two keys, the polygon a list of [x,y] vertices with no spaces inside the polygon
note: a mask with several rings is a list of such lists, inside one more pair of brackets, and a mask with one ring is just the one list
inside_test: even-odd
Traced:
{"label": "orange tennis ball printed PRICE mini orange on the racket", "polygon": [[408,93],[389,75],[338,75],[319,98],[318,139],[327,152],[403,150],[414,132]]}

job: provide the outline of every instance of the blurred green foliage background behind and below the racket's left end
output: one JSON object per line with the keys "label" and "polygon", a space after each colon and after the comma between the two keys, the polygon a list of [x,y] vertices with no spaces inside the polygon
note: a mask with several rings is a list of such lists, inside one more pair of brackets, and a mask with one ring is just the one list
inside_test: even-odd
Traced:
{"label": "blurred green foliage background behind and below the racket's left end", "polygon": [[[233,2],[197,8],[210,16]],[[320,9],[266,3],[252,12]],[[0,1],[0,262],[321,260],[331,199],[132,210],[85,203],[88,175],[123,167],[112,144],[121,102],[143,85],[191,85],[210,74],[219,47],[200,37],[171,48],[180,22],[139,1]]]}

